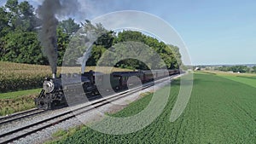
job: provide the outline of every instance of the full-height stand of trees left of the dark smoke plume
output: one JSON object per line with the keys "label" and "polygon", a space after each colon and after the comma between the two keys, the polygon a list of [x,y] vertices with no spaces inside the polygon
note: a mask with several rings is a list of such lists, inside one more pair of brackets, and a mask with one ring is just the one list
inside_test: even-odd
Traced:
{"label": "full-height stand of trees left of the dark smoke plume", "polygon": [[47,64],[38,45],[37,18],[32,5],[8,0],[0,14],[0,60]]}

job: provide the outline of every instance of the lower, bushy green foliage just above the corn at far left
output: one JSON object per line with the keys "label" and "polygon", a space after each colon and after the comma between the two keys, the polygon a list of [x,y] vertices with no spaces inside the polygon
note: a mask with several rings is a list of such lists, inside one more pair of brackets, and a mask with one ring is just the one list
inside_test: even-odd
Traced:
{"label": "lower, bushy green foliage just above the corn at far left", "polygon": [[48,64],[43,56],[36,32],[9,32],[3,37],[4,55],[1,60],[28,64]]}

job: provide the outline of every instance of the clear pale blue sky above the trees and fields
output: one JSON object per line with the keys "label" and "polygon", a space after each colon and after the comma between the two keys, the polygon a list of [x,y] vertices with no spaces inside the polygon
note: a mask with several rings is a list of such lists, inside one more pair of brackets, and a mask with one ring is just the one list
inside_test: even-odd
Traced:
{"label": "clear pale blue sky above the trees and fields", "polygon": [[[29,0],[35,8],[43,1]],[[256,64],[254,0],[78,1],[79,13],[73,17],[77,21],[120,10],[160,17],[182,37],[193,65]],[[1,0],[0,5],[5,2]]]}

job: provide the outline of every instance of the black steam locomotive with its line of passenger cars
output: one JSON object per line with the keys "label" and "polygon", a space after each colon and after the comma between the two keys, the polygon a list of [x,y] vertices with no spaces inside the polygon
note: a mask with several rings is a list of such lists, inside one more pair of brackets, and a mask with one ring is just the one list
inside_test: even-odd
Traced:
{"label": "black steam locomotive with its line of passenger cars", "polygon": [[[104,74],[102,72],[84,72],[83,74],[62,74],[60,78],[45,78],[43,89],[40,95],[35,99],[38,109],[53,109],[55,107],[67,106],[65,90],[76,91],[75,89],[83,88],[83,93],[93,98],[99,96],[99,90],[106,91],[113,89],[115,92],[128,89],[130,86],[136,86],[138,81],[128,79],[136,77],[140,83],[145,84],[150,81],[166,78],[171,75],[180,74],[179,70],[153,70],[138,72],[112,72]],[[105,84],[106,78],[110,79],[110,84]],[[100,86],[99,86],[100,85]],[[100,89],[97,89],[99,88]],[[74,95],[79,95],[75,94]]]}

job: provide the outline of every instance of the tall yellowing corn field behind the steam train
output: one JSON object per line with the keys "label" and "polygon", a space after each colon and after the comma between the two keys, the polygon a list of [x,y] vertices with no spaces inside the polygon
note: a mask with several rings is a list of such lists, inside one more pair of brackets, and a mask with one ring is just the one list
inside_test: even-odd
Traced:
{"label": "tall yellowing corn field behind the steam train", "polygon": [[[80,67],[62,67],[63,72],[80,72]],[[104,72],[107,67],[101,67]],[[87,66],[85,71],[96,70],[95,66]],[[113,68],[112,72],[127,71],[125,69]],[[58,67],[58,73],[61,67]],[[24,89],[41,88],[44,78],[51,77],[49,66],[18,64],[0,61],[0,93],[18,91]]]}

